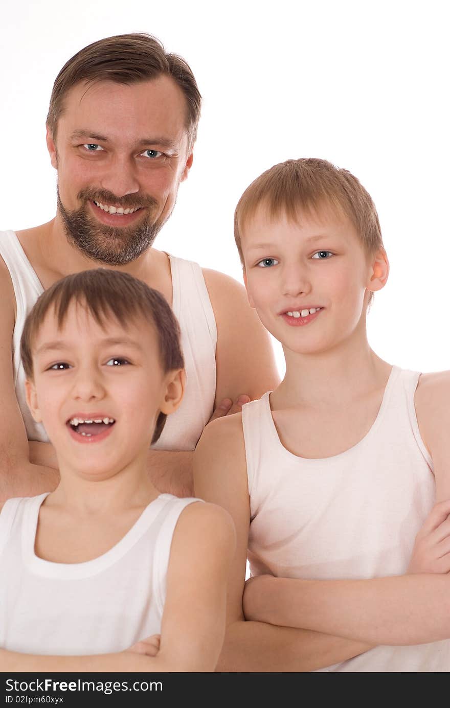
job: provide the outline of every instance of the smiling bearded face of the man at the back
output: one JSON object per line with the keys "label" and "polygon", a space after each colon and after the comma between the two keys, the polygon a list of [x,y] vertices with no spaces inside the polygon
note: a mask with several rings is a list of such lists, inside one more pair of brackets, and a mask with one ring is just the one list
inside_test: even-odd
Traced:
{"label": "smiling bearded face of the man at the back", "polygon": [[67,238],[95,261],[125,265],[152,245],[189,172],[186,100],[168,76],[77,84],[47,145]]}

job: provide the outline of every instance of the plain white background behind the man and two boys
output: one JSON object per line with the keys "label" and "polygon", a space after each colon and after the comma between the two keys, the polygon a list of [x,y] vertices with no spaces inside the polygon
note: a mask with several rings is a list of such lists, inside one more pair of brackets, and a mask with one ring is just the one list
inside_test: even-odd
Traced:
{"label": "plain white background behind the man and two boys", "polygon": [[0,30],[0,228],[55,215],[44,124],[62,64],[102,37],[148,32],[189,62],[204,99],[193,169],[157,247],[242,280],[232,215],[244,188],[276,162],[329,159],[373,196],[390,257],[371,345],[403,367],[450,368],[446,5],[11,2]]}

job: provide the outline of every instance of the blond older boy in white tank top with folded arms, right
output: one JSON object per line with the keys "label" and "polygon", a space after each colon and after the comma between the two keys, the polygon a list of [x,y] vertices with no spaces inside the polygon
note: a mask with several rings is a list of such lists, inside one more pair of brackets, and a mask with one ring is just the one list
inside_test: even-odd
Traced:
{"label": "blond older boy in white tank top with folded arms, right", "polygon": [[450,570],[450,379],[369,347],[388,278],[373,202],[348,171],[290,160],[244,192],[235,238],[286,376],[196,452],[196,493],[237,527],[218,666],[448,671],[450,577],[413,573]]}

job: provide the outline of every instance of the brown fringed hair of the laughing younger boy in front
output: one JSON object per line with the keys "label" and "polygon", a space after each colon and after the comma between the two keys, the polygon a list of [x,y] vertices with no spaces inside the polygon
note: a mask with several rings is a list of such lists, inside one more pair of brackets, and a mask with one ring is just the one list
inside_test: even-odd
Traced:
{"label": "brown fringed hair of the laughing younger boy in front", "polygon": [[[157,332],[164,374],[184,368],[179,324],[164,297],[133,275],[96,268],[58,280],[40,295],[28,313],[21,337],[21,358],[28,379],[33,379],[33,345],[47,312],[54,309],[61,328],[72,302],[86,308],[101,327],[105,327],[108,320],[116,319],[127,329],[133,319],[145,319]],[[166,418],[165,413],[159,413],[152,444],[161,435]]]}

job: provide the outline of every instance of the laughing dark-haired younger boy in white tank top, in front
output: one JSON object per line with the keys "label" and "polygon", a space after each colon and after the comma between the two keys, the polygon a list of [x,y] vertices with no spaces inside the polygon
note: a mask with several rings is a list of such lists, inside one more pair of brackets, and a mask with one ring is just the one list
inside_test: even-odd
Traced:
{"label": "laughing dark-haired younger boy in white tank top, in front", "polygon": [[184,390],[171,308],[127,273],[83,271],[38,299],[21,354],[61,481],[1,510],[2,670],[212,671],[232,522],[158,494],[146,467]]}

